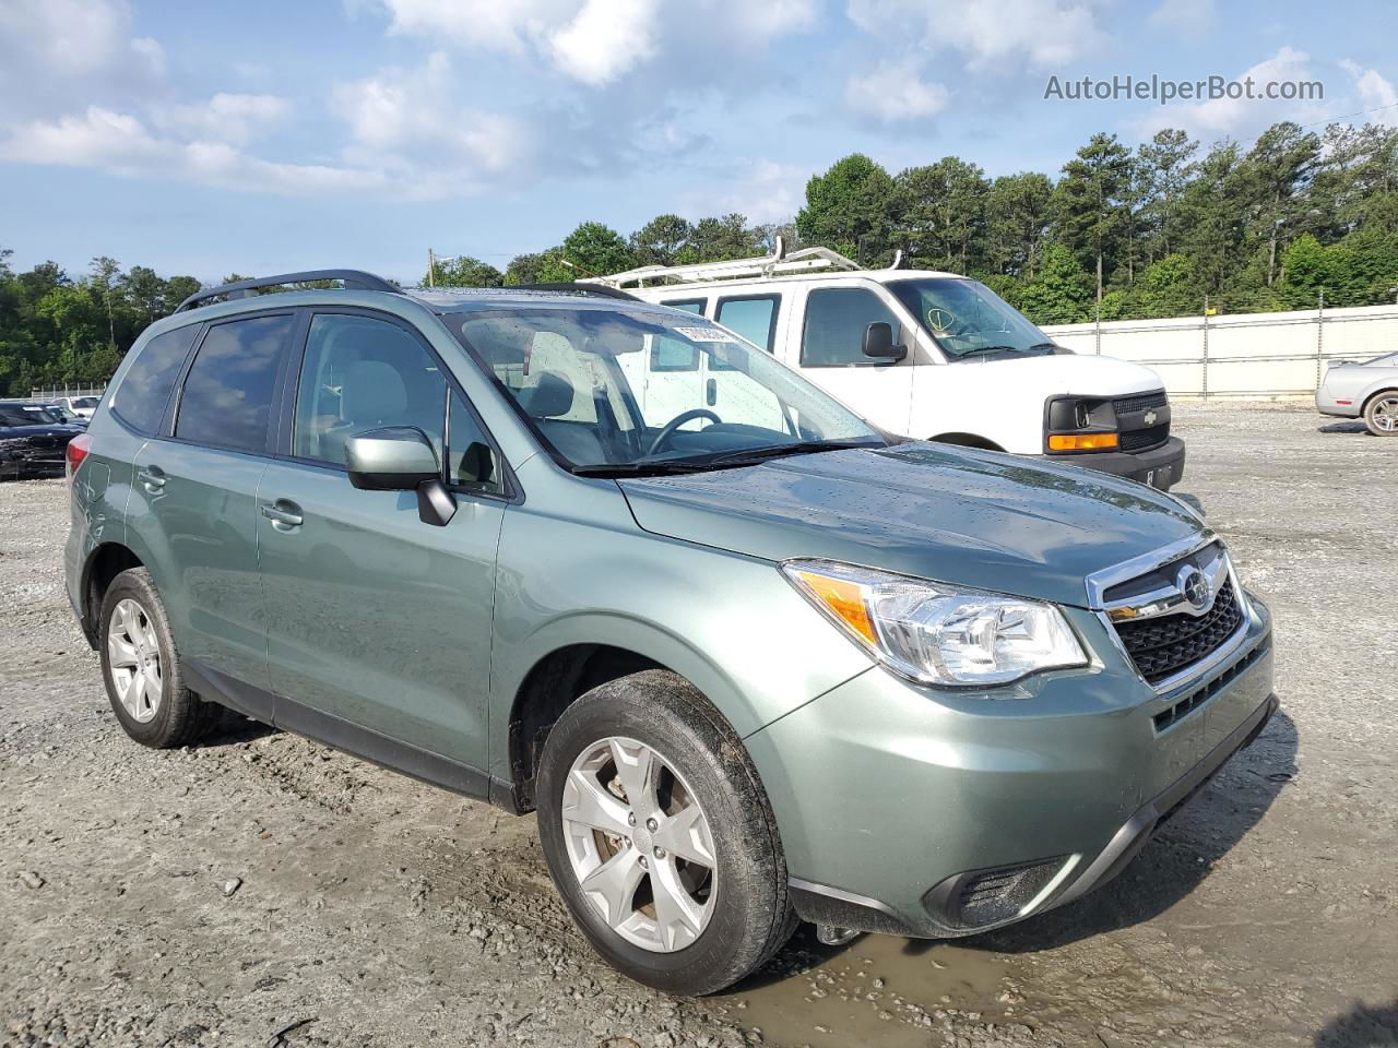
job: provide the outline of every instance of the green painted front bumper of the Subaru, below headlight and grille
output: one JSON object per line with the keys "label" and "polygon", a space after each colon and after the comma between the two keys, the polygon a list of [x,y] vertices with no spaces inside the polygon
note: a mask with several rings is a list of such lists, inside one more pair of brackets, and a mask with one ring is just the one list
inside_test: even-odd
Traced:
{"label": "green painted front bumper of the Subaru, below headlight and grille", "polygon": [[[1276,708],[1271,616],[1251,599],[1241,646],[1156,694],[1106,626],[1074,613],[1086,671],[994,693],[934,690],[871,669],[747,739],[811,921],[951,938],[1062,905],[1106,883]],[[1071,612],[1072,609],[1069,609]],[[1095,636],[1093,629],[1102,636]],[[1206,699],[1159,728],[1156,717]],[[1044,868],[1014,910],[966,919],[960,889]]]}

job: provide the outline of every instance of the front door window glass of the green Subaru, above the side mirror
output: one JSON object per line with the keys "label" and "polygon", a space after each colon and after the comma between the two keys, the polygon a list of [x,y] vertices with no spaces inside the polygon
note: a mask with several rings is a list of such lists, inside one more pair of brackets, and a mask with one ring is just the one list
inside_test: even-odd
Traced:
{"label": "front door window glass of the green Subaru, above the side mirror", "polygon": [[344,465],[345,442],[382,426],[415,426],[442,461],[446,379],[408,331],[352,313],[317,313],[306,335],[291,447]]}

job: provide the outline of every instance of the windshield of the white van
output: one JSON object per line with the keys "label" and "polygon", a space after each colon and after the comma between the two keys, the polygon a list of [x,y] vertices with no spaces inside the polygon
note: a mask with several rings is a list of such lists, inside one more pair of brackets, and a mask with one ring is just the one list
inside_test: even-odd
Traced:
{"label": "windshield of the white van", "polygon": [[1053,341],[984,284],[958,277],[892,281],[899,302],[946,354],[949,362],[995,356],[1043,356]]}

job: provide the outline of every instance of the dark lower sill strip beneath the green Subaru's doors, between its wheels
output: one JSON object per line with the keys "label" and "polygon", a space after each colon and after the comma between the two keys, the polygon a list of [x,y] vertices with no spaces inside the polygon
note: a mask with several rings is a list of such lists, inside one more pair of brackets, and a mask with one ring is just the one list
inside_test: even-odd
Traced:
{"label": "dark lower sill strip beneath the green Subaru's doors, between its wheels", "polygon": [[323,742],[390,771],[400,771],[422,783],[489,801],[510,813],[519,813],[513,787],[491,778],[470,764],[410,746],[294,699],[282,699],[197,662],[185,662],[182,668],[190,689],[201,699],[226,706],[254,721]]}

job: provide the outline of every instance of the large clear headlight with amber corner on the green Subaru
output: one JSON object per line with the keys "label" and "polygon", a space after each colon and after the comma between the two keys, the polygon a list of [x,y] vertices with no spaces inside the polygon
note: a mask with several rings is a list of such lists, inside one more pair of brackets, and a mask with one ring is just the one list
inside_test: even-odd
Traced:
{"label": "large clear headlight with amber corner on the green Subaru", "polygon": [[889,669],[928,685],[1002,685],[1088,664],[1051,604],[829,560],[788,560],[795,588]]}

